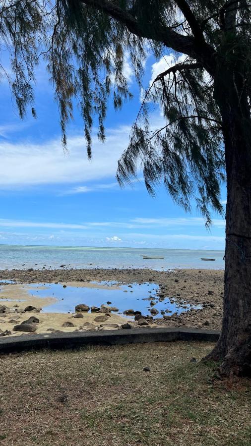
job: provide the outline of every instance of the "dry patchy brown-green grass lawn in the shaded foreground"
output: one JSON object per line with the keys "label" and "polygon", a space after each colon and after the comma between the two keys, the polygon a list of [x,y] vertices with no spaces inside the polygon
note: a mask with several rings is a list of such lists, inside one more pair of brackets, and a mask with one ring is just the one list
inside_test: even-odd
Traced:
{"label": "dry patchy brown-green grass lawn in the shaded foreground", "polygon": [[212,347],[0,356],[0,445],[250,446],[251,382],[212,380],[212,364],[199,362]]}

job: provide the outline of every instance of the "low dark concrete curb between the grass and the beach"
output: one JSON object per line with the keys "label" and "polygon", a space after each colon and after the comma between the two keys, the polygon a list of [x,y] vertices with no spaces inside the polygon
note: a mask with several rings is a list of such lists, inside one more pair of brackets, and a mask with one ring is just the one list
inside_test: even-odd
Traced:
{"label": "low dark concrete curb between the grass and the beach", "polygon": [[216,342],[220,332],[188,328],[159,328],[107,330],[88,333],[61,333],[41,335],[5,336],[0,338],[0,354],[41,348],[67,349],[86,345],[122,345],[144,342],[171,342],[177,340]]}

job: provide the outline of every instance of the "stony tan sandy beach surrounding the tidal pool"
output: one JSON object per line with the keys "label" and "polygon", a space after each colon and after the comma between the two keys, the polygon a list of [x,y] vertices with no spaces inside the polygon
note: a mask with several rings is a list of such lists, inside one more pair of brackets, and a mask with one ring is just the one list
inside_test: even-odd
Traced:
{"label": "stony tan sandy beach surrounding the tidal pool", "polygon": [[[105,330],[116,328],[130,321],[134,321],[132,315],[130,319],[123,315],[110,312],[109,317],[104,322],[95,322],[97,316],[104,316],[104,313],[81,312],[82,317],[75,317],[74,313],[46,313],[43,308],[57,301],[57,297],[39,297],[28,293],[28,285],[32,283],[55,283],[74,287],[95,287],[107,289],[105,284],[93,284],[92,281],[116,281],[116,287],[122,284],[144,282],[154,282],[159,285],[158,299],[161,301],[165,297],[172,298],[174,302],[185,301],[190,305],[199,306],[199,309],[191,309],[179,315],[159,314],[154,321],[148,320],[149,327],[196,327],[211,328],[218,330],[221,328],[223,311],[223,279],[224,272],[219,270],[176,270],[174,272],[158,272],[153,270],[133,270],[133,269],[84,269],[84,270],[4,270],[0,271],[0,305],[6,305],[10,310],[0,314],[1,332],[10,331],[11,335],[20,335],[22,332],[13,332],[13,327],[34,316],[39,319],[36,324],[36,333],[46,333],[48,331],[60,330],[63,332],[73,332],[75,330]],[[13,280],[14,284],[4,284],[4,280]],[[116,292],[116,291],[113,291]],[[156,299],[155,299],[156,300]],[[82,304],[85,302],[79,302]],[[104,302],[106,304],[106,302]],[[40,312],[26,311],[28,305],[41,309]],[[136,302],[135,308],[136,309]],[[64,323],[73,326],[63,327]],[[92,324],[92,328],[86,323]],[[69,325],[70,325],[69,324]],[[108,324],[108,325],[107,325]],[[103,326],[104,325],[104,326]],[[132,322],[137,326],[137,322]]]}

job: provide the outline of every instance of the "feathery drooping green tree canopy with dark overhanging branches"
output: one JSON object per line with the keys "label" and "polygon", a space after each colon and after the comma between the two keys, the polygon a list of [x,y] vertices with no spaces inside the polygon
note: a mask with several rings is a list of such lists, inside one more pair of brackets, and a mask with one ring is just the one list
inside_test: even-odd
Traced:
{"label": "feathery drooping green tree canopy with dark overhanging branches", "polygon": [[[109,100],[120,109],[131,97],[123,71],[129,56],[144,93],[118,180],[130,181],[140,165],[150,193],[164,182],[186,210],[193,197],[210,223],[210,207],[222,212],[224,180],[215,82],[225,64],[245,79],[249,97],[250,25],[249,0],[3,0],[0,48],[8,50],[11,69],[2,64],[0,73],[9,81],[20,116],[28,107],[35,116],[35,71],[43,59],[59,106],[63,147],[77,103],[90,158],[95,115],[104,141]],[[149,52],[163,56],[165,47],[177,63],[145,89],[145,59]],[[160,128],[152,128],[148,118],[152,106],[161,107]]]}

